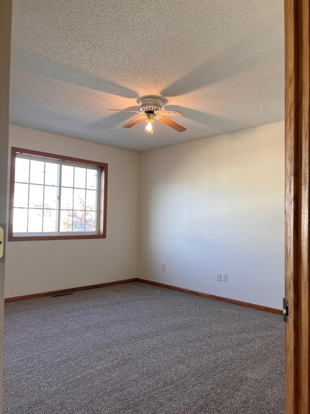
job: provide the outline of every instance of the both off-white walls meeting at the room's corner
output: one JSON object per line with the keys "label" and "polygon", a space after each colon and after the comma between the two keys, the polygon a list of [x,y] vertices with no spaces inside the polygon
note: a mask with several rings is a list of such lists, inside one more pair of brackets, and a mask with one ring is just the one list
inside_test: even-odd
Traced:
{"label": "both off-white walls meeting at the room's corner", "polygon": [[106,239],[7,243],[6,298],[135,278],[139,228],[138,277],[281,308],[284,122],[141,154],[14,125],[10,145],[107,162],[109,183]]}

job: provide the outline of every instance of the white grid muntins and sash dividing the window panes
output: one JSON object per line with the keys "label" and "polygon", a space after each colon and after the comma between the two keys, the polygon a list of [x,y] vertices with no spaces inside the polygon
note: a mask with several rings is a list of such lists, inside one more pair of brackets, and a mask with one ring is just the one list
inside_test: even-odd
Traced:
{"label": "white grid muntins and sash dividing the window panes", "polygon": [[[33,155],[32,156],[31,154],[18,153],[18,152],[16,152],[16,158],[18,157],[17,154],[19,154],[20,156],[22,156],[25,159],[29,159],[30,160],[29,169],[28,169],[28,183],[25,183],[25,182],[16,182],[14,180],[14,183],[21,183],[21,184],[27,184],[28,185],[28,202],[27,202],[28,207],[14,207],[13,206],[13,208],[24,209],[24,210],[27,209],[27,232],[13,232],[13,236],[24,236],[24,235],[31,236],[31,235],[33,235],[33,236],[40,237],[40,236],[44,236],[44,235],[66,235],[66,234],[67,235],[70,235],[70,234],[71,235],[75,235],[75,234],[94,235],[94,234],[99,234],[98,229],[99,229],[99,221],[100,221],[100,216],[99,216],[99,211],[100,211],[100,197],[98,197],[98,194],[100,194],[100,170],[101,170],[101,167],[100,166],[93,166],[93,165],[87,165],[87,164],[79,164],[79,163],[74,163],[74,162],[65,161],[65,160],[63,160],[63,161],[62,160],[55,160],[55,159],[49,158],[49,157],[36,156],[36,155]],[[43,184],[30,182],[31,160],[44,162],[44,182],[43,182]],[[58,185],[57,185],[57,188],[58,188],[58,192],[57,192],[58,193],[58,195],[57,195],[58,208],[57,209],[51,209],[51,208],[45,209],[44,208],[45,186],[56,188],[55,185],[45,184],[45,179],[46,179],[46,163],[58,164],[58,166],[59,166],[58,167]],[[77,166],[78,168],[84,168],[84,169],[86,169],[86,172],[85,172],[85,188],[81,188],[81,187],[66,187],[66,188],[73,188],[73,198],[74,198],[74,189],[75,188],[85,190],[85,209],[84,210],[78,210],[78,209],[77,210],[72,210],[72,215],[73,215],[73,212],[74,211],[82,211],[82,212],[84,212],[84,231],[82,231],[82,232],[75,232],[75,231],[73,231],[73,220],[72,220],[72,226],[71,226],[72,231],[71,232],[61,232],[60,231],[60,216],[61,216],[60,213],[62,211],[61,210],[61,188],[62,188],[62,186],[61,186],[61,171],[62,171],[61,166],[62,165],[72,165],[74,167]],[[88,169],[93,169],[93,170],[96,170],[97,171],[96,189],[87,188],[87,170]],[[75,168],[74,168],[74,174],[75,174]],[[29,207],[30,185],[41,185],[41,186],[43,186],[44,191],[43,191],[42,209],[40,209],[40,208],[30,208]],[[74,182],[73,182],[73,185],[74,185]],[[65,187],[65,186],[63,186],[63,187]],[[87,190],[95,191],[96,192],[96,210],[87,210],[86,209],[86,191]],[[74,204],[73,204],[73,208],[74,208]],[[29,210],[41,210],[42,211],[42,232],[29,232],[28,231],[28,228],[29,228]],[[56,211],[57,212],[56,213],[57,214],[57,217],[56,217],[56,223],[57,223],[56,232],[43,232],[43,229],[44,229],[44,211],[45,210],[52,210],[52,211]],[[85,222],[85,220],[86,220],[86,213],[87,212],[95,213],[95,215],[96,215],[96,219],[95,219],[95,231],[92,231],[92,232],[86,232],[85,231],[85,228],[86,228],[86,222]],[[14,224],[14,217],[13,217],[13,224]]]}

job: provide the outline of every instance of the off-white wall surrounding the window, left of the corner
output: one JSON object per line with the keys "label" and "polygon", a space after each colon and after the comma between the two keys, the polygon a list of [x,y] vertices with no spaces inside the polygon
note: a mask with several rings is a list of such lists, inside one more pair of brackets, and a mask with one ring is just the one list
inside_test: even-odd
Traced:
{"label": "off-white wall surrounding the window, left of the corner", "polygon": [[139,154],[10,126],[10,146],[109,164],[107,238],[8,242],[5,297],[137,276]]}

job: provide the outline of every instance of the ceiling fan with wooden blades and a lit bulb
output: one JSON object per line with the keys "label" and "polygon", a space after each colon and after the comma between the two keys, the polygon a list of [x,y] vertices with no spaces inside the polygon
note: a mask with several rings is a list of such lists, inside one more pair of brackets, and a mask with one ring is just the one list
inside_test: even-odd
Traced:
{"label": "ceiling fan with wooden blades and a lit bulb", "polygon": [[164,102],[161,98],[157,96],[143,96],[138,99],[138,103],[140,104],[140,111],[132,111],[129,109],[109,109],[109,111],[136,112],[138,114],[142,112],[143,115],[140,115],[137,118],[133,119],[132,121],[128,122],[127,124],[123,125],[122,128],[131,128],[134,125],[138,124],[138,122],[145,120],[147,122],[146,131],[153,133],[152,124],[154,122],[154,118],[156,118],[158,119],[158,121],[163,122],[164,124],[168,125],[169,127],[173,128],[174,130],[178,132],[186,131],[186,128],[182,127],[182,125],[179,125],[176,122],[166,117],[166,115],[184,116],[184,114],[178,111],[162,110],[161,108]]}

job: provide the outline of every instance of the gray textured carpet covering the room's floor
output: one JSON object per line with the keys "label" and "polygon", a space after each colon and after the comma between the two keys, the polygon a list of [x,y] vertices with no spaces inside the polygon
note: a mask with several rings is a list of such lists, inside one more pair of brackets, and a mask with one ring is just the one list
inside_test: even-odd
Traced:
{"label": "gray textured carpet covering the room's floor", "polygon": [[283,414],[272,315],[138,282],[5,305],[4,414]]}

